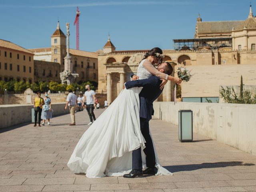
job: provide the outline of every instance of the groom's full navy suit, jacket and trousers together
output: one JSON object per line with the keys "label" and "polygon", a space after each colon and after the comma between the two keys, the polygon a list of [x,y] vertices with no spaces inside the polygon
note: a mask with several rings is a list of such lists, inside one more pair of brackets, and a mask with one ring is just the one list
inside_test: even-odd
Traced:
{"label": "groom's full navy suit, jacket and trousers together", "polygon": [[[132,87],[143,87],[139,94],[140,130],[146,140],[146,148],[144,149],[144,153],[146,154],[146,166],[150,168],[155,167],[156,157],[152,139],[149,133],[149,120],[152,118],[152,115],[154,115],[153,102],[162,93],[162,90],[160,90],[161,83],[162,81],[160,78],[152,76],[148,79],[129,81],[125,84],[126,89]],[[142,157],[140,148],[132,151],[132,168],[136,170],[142,169]]]}

